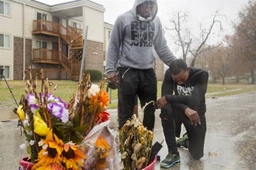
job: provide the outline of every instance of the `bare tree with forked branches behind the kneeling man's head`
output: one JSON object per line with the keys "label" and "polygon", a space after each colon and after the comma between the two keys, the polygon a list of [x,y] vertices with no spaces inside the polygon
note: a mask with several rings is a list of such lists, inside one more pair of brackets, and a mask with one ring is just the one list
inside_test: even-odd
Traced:
{"label": "bare tree with forked branches behind the kneeling man's head", "polygon": [[[205,49],[206,41],[209,38],[212,29],[214,26],[219,23],[220,24],[220,30],[222,30],[222,24],[221,21],[217,19],[217,17],[220,16],[218,14],[218,11],[216,11],[215,15],[212,18],[212,22],[210,23],[209,29],[204,29],[202,27],[202,24],[200,23],[200,37],[195,38],[193,40],[191,31],[185,29],[183,30],[182,23],[186,22],[186,18],[188,15],[186,13],[182,14],[181,11],[176,12],[174,16],[169,19],[169,22],[172,24],[171,28],[166,28],[166,30],[172,30],[175,31],[177,39],[175,40],[175,44],[181,46],[182,48],[182,58],[186,61],[188,54],[190,53],[193,56],[193,59],[191,60],[190,66],[194,66],[197,57],[203,52]],[[200,42],[200,43],[198,43]],[[217,45],[218,46],[218,45]],[[212,46],[208,46],[212,47]]]}

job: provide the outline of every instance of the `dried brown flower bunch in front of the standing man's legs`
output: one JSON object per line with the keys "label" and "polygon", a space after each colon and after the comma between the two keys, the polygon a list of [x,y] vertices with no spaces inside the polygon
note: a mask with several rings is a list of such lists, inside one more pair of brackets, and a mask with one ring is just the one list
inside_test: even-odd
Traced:
{"label": "dried brown flower bunch in front of the standing man's legs", "polygon": [[[141,110],[142,116],[147,103]],[[119,144],[121,159],[124,165],[124,170],[142,169],[150,158],[153,132],[147,130],[142,125],[142,117],[133,115],[131,120],[127,120],[119,132]]]}

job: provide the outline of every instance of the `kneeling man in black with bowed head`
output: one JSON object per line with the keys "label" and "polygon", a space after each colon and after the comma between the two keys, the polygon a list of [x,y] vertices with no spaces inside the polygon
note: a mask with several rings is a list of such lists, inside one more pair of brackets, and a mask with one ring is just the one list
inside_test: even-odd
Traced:
{"label": "kneeling man in black with bowed head", "polygon": [[[160,117],[168,147],[168,155],[161,162],[161,167],[169,168],[180,163],[177,146],[188,148],[194,159],[203,157],[207,84],[208,72],[200,68],[187,67],[182,59],[173,61],[166,70],[162,98],[157,101],[157,106],[161,109]],[[175,136],[180,137],[182,124],[187,133],[176,143]]]}

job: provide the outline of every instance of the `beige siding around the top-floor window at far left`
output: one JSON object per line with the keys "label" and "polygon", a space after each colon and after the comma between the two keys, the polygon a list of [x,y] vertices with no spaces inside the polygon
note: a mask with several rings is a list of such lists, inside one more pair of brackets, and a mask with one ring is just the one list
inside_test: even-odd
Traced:
{"label": "beige siding around the top-floor window at far left", "polygon": [[23,5],[13,1],[6,2],[10,3],[11,16],[0,15],[0,32],[23,36]]}

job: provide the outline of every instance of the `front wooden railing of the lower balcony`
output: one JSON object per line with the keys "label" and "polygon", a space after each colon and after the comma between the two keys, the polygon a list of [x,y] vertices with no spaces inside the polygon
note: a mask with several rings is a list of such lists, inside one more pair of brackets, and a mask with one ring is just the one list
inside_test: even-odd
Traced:
{"label": "front wooden railing of the lower balcony", "polygon": [[44,48],[33,49],[32,61],[58,62],[58,51]]}

